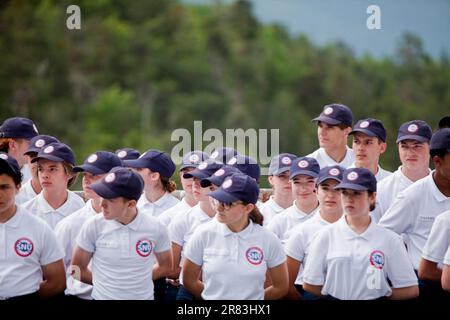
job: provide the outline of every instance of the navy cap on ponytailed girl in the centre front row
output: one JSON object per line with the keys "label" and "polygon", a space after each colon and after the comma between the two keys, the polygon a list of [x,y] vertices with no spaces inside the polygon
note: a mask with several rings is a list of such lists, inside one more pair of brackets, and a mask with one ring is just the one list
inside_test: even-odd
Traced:
{"label": "navy cap on ponytailed girl in the centre front row", "polygon": [[243,201],[256,204],[259,187],[252,177],[243,173],[236,173],[226,178],[220,188],[208,193],[208,196],[224,203]]}

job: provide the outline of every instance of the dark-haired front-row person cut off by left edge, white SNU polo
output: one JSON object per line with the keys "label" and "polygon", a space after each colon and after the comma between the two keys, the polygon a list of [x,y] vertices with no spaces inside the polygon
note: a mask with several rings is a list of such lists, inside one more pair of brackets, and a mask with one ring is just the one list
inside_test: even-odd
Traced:
{"label": "dark-haired front-row person cut off by left edge, white SNU polo", "polygon": [[63,253],[55,234],[15,204],[21,179],[17,161],[0,152],[0,300],[50,298],[66,287]]}

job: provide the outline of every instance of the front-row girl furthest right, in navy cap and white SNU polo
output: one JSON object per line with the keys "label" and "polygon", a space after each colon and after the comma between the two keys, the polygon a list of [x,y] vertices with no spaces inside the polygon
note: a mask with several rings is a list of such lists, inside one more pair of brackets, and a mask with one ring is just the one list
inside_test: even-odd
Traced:
{"label": "front-row girl furthest right, in navy cap and white SNU polo", "polygon": [[339,300],[417,297],[417,277],[401,237],[369,215],[377,190],[372,172],[347,169],[335,188],[341,190],[344,216],[312,241],[303,289]]}

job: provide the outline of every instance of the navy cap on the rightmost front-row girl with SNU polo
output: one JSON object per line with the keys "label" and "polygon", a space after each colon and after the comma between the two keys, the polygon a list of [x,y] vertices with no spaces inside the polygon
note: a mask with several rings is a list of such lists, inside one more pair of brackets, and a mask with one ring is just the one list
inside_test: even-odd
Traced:
{"label": "navy cap on the rightmost front-row girl with SNU polo", "polygon": [[366,168],[350,168],[342,174],[342,181],[334,189],[351,189],[357,191],[377,191],[377,179]]}

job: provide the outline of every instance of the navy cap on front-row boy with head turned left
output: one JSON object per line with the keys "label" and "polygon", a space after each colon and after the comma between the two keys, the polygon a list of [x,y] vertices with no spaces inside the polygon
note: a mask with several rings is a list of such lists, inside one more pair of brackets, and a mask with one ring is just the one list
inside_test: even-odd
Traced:
{"label": "navy cap on front-row boy with head turned left", "polygon": [[104,199],[124,197],[137,201],[144,190],[144,181],[130,168],[115,167],[100,181],[91,184],[91,188]]}

